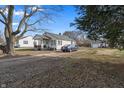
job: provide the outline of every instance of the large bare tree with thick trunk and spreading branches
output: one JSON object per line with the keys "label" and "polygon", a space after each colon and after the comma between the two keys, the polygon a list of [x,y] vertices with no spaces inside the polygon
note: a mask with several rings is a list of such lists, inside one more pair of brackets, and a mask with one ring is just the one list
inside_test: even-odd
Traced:
{"label": "large bare tree with thick trunk and spreading branches", "polygon": [[[55,9],[46,9],[42,6],[23,6],[18,26],[16,29],[13,29],[15,6],[9,5],[0,8],[0,22],[5,25],[4,34],[10,55],[14,55],[14,42],[27,31],[43,30],[40,28],[40,25],[42,22],[51,19],[51,15],[53,15],[53,12],[50,12],[51,10],[55,11]],[[36,27],[38,24],[39,27]]]}

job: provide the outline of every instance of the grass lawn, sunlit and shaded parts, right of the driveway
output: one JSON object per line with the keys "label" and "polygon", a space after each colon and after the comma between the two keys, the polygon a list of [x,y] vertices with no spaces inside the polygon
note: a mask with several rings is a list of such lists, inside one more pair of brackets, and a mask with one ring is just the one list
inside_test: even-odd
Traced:
{"label": "grass lawn, sunlit and shaded parts, right of the driveway", "polygon": [[123,51],[81,48],[54,67],[25,82],[30,87],[124,87]]}

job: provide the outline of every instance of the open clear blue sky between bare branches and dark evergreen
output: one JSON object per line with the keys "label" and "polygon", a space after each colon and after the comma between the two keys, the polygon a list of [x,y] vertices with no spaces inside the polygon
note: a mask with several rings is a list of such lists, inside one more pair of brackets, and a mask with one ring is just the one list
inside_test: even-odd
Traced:
{"label": "open clear blue sky between bare branches and dark evergreen", "polygon": [[74,22],[76,16],[74,6],[63,6],[63,11],[60,12],[60,16],[53,19],[55,21],[54,23],[46,24],[46,27],[53,33],[75,30],[74,27],[70,27],[70,23]]}

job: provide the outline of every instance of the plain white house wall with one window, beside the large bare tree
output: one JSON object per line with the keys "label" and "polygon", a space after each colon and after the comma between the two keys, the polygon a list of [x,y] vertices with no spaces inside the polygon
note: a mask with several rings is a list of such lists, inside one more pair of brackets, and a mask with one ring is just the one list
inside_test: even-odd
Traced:
{"label": "plain white house wall with one window, beside the large bare tree", "polygon": [[32,48],[32,47],[34,47],[33,37],[32,36],[22,37],[21,39],[19,39],[19,41],[17,41],[15,43],[15,47],[19,47],[19,48],[22,48],[22,47]]}

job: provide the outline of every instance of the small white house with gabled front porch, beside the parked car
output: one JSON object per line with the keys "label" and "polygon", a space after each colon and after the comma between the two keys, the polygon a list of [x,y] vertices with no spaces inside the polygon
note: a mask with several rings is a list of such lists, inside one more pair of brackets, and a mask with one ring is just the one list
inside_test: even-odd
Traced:
{"label": "small white house with gabled front porch, beside the parked car", "polygon": [[67,44],[75,44],[73,39],[64,35],[45,32],[43,35],[34,36],[35,49],[54,49],[60,50],[62,46]]}

